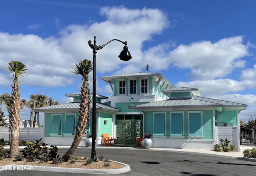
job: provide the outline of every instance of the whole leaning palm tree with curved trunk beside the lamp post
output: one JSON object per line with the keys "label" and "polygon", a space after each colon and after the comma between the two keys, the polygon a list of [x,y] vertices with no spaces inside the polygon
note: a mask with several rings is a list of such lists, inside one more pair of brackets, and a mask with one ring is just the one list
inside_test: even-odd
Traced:
{"label": "whole leaning palm tree with curved trunk beside the lamp post", "polygon": [[82,87],[81,87],[81,99],[80,108],[78,114],[78,124],[76,126],[76,134],[74,141],[68,151],[62,156],[63,160],[67,162],[76,151],[76,148],[80,144],[82,137],[86,131],[86,125],[90,118],[90,89],[89,89],[89,73],[93,70],[92,62],[90,60],[80,60],[75,62],[72,66],[71,73],[74,75],[82,76]]}

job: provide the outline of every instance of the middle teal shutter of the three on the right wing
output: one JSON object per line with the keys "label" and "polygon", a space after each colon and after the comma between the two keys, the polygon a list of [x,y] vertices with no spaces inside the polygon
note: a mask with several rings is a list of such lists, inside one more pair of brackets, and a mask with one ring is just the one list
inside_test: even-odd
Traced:
{"label": "middle teal shutter of the three on the right wing", "polygon": [[171,117],[171,136],[182,136],[183,135],[183,114],[172,113]]}

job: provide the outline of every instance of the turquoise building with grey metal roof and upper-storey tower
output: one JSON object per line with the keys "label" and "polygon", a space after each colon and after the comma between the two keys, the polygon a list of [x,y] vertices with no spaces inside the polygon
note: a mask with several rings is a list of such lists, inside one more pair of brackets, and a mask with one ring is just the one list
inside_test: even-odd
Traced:
{"label": "turquoise building with grey metal roof and upper-storey tower", "polygon": [[[160,73],[100,79],[110,85],[113,95],[96,97],[97,146],[103,144],[103,133],[121,144],[135,144],[136,138],[150,133],[154,148],[212,149],[219,138],[228,136],[239,149],[240,111],[246,104],[206,98],[197,88],[174,87]],[[73,102],[34,110],[44,112],[44,142],[51,145],[69,146],[74,139],[80,93],[66,96]],[[86,134],[90,132],[91,120]]]}

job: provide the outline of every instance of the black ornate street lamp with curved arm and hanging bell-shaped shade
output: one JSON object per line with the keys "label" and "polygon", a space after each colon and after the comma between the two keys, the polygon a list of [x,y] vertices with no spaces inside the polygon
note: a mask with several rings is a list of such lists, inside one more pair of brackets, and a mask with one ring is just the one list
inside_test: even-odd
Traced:
{"label": "black ornate street lamp with curved arm and hanging bell-shaped shade", "polygon": [[121,40],[118,39],[112,39],[108,42],[106,42],[105,44],[103,44],[102,46],[97,46],[96,45],[96,36],[94,36],[94,42],[92,44],[92,41],[89,40],[88,44],[90,46],[90,48],[92,48],[92,53],[93,53],[93,74],[92,74],[92,155],[91,155],[91,159],[96,161],[97,157],[96,157],[96,53],[98,50],[102,49],[104,46],[106,46],[107,44],[109,44],[112,41],[118,41],[123,43],[124,49],[121,51],[120,55],[118,56],[120,58],[120,60],[124,60],[124,61],[128,61],[132,58],[130,52],[128,51],[128,47],[127,47],[127,42],[122,42]]}

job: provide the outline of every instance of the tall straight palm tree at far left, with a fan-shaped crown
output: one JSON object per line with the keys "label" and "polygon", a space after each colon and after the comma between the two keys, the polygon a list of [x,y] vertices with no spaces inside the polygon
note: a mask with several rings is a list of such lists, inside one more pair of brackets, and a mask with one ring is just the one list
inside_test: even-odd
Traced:
{"label": "tall straight palm tree at far left, with a fan-shaped crown", "polygon": [[19,154],[19,135],[20,135],[20,112],[21,112],[21,98],[20,98],[20,77],[26,76],[26,65],[19,61],[11,61],[6,67],[7,74],[13,75],[12,86],[12,103],[9,116],[9,128],[11,133],[9,157],[15,158]]}

